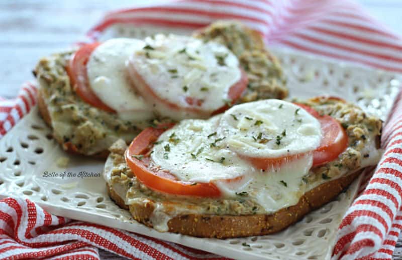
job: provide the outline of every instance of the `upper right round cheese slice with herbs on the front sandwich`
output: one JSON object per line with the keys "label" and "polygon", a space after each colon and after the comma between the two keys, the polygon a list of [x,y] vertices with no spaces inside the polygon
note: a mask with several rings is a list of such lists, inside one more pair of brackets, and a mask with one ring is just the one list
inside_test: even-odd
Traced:
{"label": "upper right round cheese slice with herbs on the front sandwich", "polygon": [[277,158],[316,149],[320,122],[292,103],[269,99],[237,105],[222,116],[219,136],[238,154]]}

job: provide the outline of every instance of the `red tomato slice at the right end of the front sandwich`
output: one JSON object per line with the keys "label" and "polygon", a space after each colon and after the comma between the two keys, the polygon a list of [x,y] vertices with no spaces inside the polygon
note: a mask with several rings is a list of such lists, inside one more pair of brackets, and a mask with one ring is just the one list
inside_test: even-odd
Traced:
{"label": "red tomato slice at the right end of the front sandwich", "polygon": [[[302,107],[312,116],[316,117],[321,124],[321,131],[323,138],[321,139],[320,146],[313,152],[313,167],[326,164],[335,160],[348,147],[348,136],[345,129],[341,124],[331,116],[320,116],[319,113],[312,107],[307,105],[295,103],[297,106]],[[295,154],[283,156],[278,158],[258,158],[258,157],[245,157],[243,158],[250,161],[258,169],[267,169],[269,167],[278,167],[288,161],[295,160],[304,154]]]}

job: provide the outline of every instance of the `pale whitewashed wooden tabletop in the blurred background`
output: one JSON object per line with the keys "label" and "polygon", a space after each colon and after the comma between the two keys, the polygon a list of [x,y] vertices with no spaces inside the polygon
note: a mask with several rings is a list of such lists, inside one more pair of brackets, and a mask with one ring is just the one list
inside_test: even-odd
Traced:
{"label": "pale whitewashed wooden tabletop in the blurred background", "polygon": [[[163,2],[166,0],[157,0]],[[13,98],[22,82],[33,78],[38,59],[79,39],[105,12],[155,0],[2,0],[0,1],[0,97]],[[402,1],[358,0],[395,34],[402,35]],[[402,240],[394,259],[402,259]],[[113,254],[100,250],[105,259]],[[120,258],[120,257],[117,257]]]}

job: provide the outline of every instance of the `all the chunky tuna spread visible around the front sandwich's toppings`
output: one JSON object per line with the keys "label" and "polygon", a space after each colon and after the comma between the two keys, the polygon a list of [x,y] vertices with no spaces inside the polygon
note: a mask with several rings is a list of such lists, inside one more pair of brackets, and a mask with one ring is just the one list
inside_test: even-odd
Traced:
{"label": "all the chunky tuna spread visible around the front sandwich's toppings", "polygon": [[[300,180],[298,184],[300,190],[307,192],[322,183],[349,175],[368,165],[375,165],[379,161],[381,156],[381,151],[378,149],[378,138],[381,133],[379,119],[367,116],[360,108],[334,98],[316,98],[308,100],[304,104],[312,106],[322,115],[331,115],[338,120],[346,130],[349,145],[336,160],[312,168]],[[217,116],[218,119],[219,117]],[[174,143],[172,142],[171,145],[175,145]],[[126,148],[123,141],[116,142],[110,148],[111,154],[105,167],[105,175],[110,176],[107,178],[109,185],[120,186],[119,194],[128,205],[140,204],[148,205],[148,207],[152,205],[154,220],[159,222],[152,222],[154,221],[152,217],[151,222],[162,231],[166,226],[160,221],[163,220],[162,222],[167,223],[171,217],[178,214],[252,215],[273,213],[265,210],[255,197],[244,192],[236,193],[234,197],[197,198],[154,191],[138,181],[127,166],[124,159]],[[282,188],[289,187],[284,183]],[[300,197],[302,195],[300,194]],[[291,205],[286,204],[282,208],[288,206]]]}

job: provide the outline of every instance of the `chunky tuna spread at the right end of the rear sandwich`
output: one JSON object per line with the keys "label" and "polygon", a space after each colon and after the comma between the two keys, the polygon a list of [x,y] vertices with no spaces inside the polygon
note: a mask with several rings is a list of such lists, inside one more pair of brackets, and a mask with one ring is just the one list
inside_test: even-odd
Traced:
{"label": "chunky tuna spread at the right end of the rear sandwich", "polygon": [[196,31],[194,37],[225,45],[240,61],[249,80],[242,102],[284,99],[288,90],[279,61],[266,48],[258,32],[232,21],[218,21]]}

